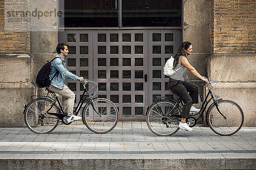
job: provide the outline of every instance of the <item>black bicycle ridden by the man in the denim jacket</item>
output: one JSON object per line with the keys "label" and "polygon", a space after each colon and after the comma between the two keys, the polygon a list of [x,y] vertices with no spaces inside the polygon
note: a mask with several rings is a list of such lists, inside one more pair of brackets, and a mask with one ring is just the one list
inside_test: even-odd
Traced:
{"label": "black bicycle ridden by the man in the denim jacket", "polygon": [[[92,83],[90,90],[86,87],[88,82]],[[110,132],[118,121],[119,114],[116,105],[108,99],[94,98],[98,93],[96,82],[84,79],[83,85],[84,92],[74,114],[77,115],[86,102],[82,110],[82,121],[86,127],[94,133]],[[88,91],[91,90],[95,93],[89,95]],[[47,96],[31,96],[31,102],[24,106],[23,113],[26,126],[34,133],[52,132],[58,126],[59,120],[65,125],[71,123],[67,123],[67,113],[64,113],[58,96],[49,90]]]}

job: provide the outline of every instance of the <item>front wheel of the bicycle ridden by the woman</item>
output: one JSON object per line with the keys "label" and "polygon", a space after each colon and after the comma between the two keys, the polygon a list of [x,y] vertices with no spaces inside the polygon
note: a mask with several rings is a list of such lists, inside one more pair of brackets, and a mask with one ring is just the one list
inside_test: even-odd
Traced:
{"label": "front wheel of the bicycle ridden by the woman", "polygon": [[222,136],[238,132],[244,123],[244,113],[240,106],[231,100],[220,100],[217,107],[212,105],[207,114],[207,122],[211,130]]}

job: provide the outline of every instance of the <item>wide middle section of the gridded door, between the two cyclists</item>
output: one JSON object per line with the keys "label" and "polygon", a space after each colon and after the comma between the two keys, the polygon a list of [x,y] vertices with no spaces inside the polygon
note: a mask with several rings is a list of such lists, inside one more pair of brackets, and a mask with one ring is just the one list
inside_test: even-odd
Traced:
{"label": "wide middle section of the gridded door, between the two cyclists", "polygon": [[[106,77],[94,72],[99,84],[106,84],[99,95],[105,95],[119,108],[120,119],[144,119],[147,105],[147,82],[144,74],[147,69],[147,32],[145,30],[95,30],[93,37],[93,61],[105,58],[106,64],[94,64],[94,69],[106,71]],[[136,34],[136,35],[135,35]],[[104,37],[99,42],[99,37]],[[135,40],[136,38],[136,40]],[[104,54],[100,48],[106,49]],[[100,54],[99,54],[100,52]]]}

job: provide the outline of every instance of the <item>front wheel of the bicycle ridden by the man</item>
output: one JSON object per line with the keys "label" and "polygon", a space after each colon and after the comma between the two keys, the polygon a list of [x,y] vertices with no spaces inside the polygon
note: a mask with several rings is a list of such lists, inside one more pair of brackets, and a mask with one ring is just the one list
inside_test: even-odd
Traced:
{"label": "front wheel of the bicycle ridden by the man", "polygon": [[88,102],[82,113],[86,127],[94,133],[108,133],[116,126],[118,110],[108,99],[93,99]]}

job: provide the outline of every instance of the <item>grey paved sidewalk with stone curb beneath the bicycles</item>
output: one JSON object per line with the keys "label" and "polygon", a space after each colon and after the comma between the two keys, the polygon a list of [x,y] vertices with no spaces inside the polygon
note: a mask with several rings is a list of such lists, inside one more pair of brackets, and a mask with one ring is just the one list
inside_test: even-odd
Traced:
{"label": "grey paved sidewalk with stone curb beneath the bicycles", "polygon": [[256,127],[218,136],[197,125],[168,137],[154,135],[145,122],[118,122],[106,134],[92,133],[81,122],[59,125],[49,134],[0,128],[0,169],[255,170],[255,155]]}

